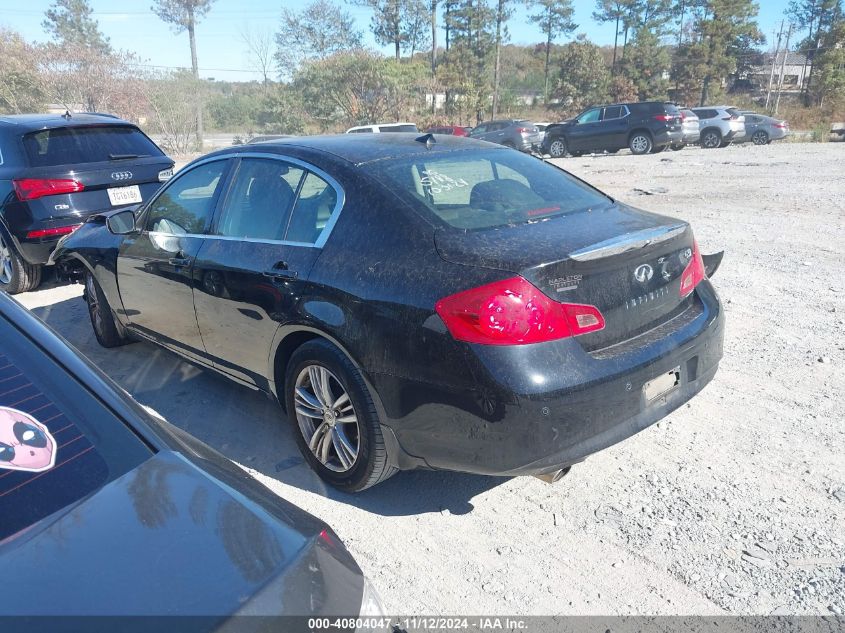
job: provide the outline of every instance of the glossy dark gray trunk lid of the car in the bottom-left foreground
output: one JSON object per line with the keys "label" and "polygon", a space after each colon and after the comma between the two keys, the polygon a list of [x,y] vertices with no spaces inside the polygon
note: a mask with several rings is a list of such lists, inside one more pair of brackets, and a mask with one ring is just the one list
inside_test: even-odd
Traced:
{"label": "glossy dark gray trunk lid of the car in the bottom-left foreground", "polygon": [[3,615],[357,615],[361,573],[314,524],[163,451],[0,546]]}

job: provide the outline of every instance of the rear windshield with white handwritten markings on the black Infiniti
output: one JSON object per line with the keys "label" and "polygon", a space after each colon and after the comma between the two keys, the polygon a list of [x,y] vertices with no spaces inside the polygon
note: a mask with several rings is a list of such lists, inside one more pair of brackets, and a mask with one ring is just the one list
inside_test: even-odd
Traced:
{"label": "rear windshield with white handwritten markings on the black Infiniti", "polygon": [[506,149],[420,154],[364,169],[429,219],[458,229],[537,222],[610,202],[566,172]]}

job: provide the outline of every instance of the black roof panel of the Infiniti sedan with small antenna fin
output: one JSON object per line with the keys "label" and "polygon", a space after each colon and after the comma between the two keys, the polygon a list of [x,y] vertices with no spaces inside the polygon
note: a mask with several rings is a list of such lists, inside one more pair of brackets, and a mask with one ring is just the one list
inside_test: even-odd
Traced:
{"label": "black roof panel of the Infiniti sedan with small antenna fin", "polygon": [[297,136],[277,141],[266,141],[245,148],[243,145],[221,150],[221,153],[243,152],[258,149],[264,151],[269,148],[283,149],[298,147],[318,152],[333,154],[360,165],[373,160],[384,158],[405,158],[423,154],[455,151],[462,149],[504,149],[504,146],[493,145],[463,136],[451,134],[432,134],[434,143],[427,148],[424,139],[427,135],[419,132],[390,132],[382,134],[335,134],[330,136]]}

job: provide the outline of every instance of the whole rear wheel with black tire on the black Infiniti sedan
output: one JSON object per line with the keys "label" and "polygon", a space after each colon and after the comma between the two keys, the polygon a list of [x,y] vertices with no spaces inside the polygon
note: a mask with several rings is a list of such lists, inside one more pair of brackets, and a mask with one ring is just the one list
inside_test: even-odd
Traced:
{"label": "whole rear wheel with black tire on the black Infiniti sedan", "polygon": [[291,355],[285,405],[303,457],[335,488],[360,492],[397,472],[361,372],[328,341],[308,341]]}

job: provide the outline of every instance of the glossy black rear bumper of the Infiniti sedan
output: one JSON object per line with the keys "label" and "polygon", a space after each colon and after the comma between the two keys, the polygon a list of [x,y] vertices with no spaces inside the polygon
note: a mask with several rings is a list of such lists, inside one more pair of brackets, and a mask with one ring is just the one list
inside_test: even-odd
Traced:
{"label": "glossy black rear bumper of the Infiniti sedan", "polygon": [[[402,451],[431,468],[512,476],[582,461],[657,422],[713,378],[724,315],[709,282],[696,292],[701,309],[694,319],[657,341],[626,344],[615,355],[587,353],[571,339],[565,345],[473,346],[479,364],[470,367],[478,383],[471,393],[375,376],[388,417],[406,409],[386,422]],[[678,386],[646,401],[643,386],[676,369]]]}

